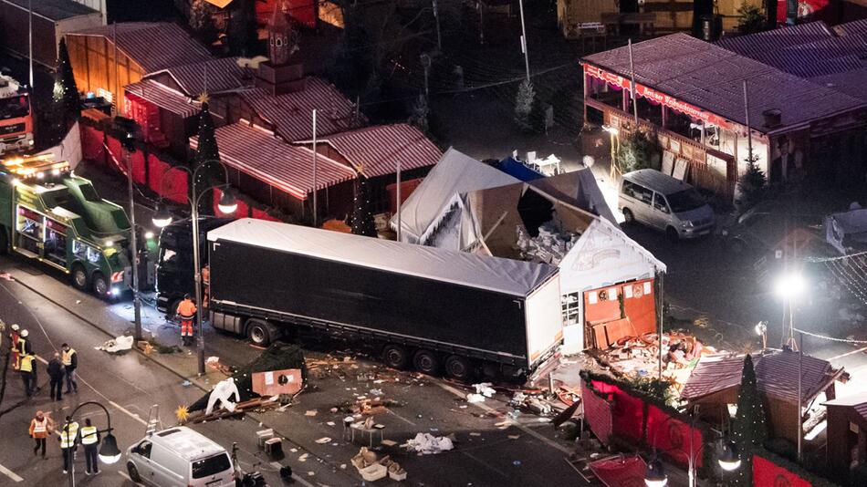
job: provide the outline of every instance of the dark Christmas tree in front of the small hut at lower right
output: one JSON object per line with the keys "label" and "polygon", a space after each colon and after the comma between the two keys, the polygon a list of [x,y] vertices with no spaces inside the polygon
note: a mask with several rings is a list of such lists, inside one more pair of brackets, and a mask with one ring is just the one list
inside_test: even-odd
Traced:
{"label": "dark Christmas tree in front of the small hut at lower right", "polygon": [[752,487],[753,452],[768,440],[768,426],[765,423],[762,398],[758,393],[753,358],[748,354],[744,359],[744,373],[740,380],[740,394],[737,396],[737,416],[732,421],[732,440],[740,452],[741,466],[734,472],[731,485]]}

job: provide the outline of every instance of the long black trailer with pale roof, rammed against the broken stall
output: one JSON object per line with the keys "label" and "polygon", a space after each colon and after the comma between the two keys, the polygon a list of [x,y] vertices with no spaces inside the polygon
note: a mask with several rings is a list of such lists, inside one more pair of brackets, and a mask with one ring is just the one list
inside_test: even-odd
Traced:
{"label": "long black trailer with pale roof, rammed against the broken stall", "polygon": [[253,219],[207,247],[212,325],[259,345],[318,334],[466,380],[529,378],[562,340],[553,265]]}

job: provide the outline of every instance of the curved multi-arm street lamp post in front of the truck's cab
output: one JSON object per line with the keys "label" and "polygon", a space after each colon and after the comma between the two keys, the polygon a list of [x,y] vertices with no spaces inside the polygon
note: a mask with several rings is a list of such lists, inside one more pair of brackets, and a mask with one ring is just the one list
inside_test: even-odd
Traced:
{"label": "curved multi-arm street lamp post in front of the truck's cab", "polygon": [[[198,172],[202,170],[207,165],[212,162],[216,162],[219,164],[225,173],[225,184],[220,184],[216,186],[211,186],[206,188],[202,194],[196,194],[195,191],[195,181]],[[235,201],[235,196],[232,192],[229,191],[229,171],[225,168],[222,162],[211,160],[204,161],[199,167],[197,167],[194,171],[183,167],[183,166],[174,166],[169,171],[165,171],[162,173],[162,178],[165,178],[165,175],[168,174],[173,169],[177,169],[180,171],[186,171],[190,174],[190,179],[193,181],[193,197],[184,197],[187,199],[187,202],[190,203],[190,207],[193,211],[192,219],[193,219],[193,267],[194,267],[194,275],[195,275],[195,305],[199,306],[200,309],[197,310],[195,314],[195,326],[198,330],[198,336],[196,337],[196,356],[199,366],[199,375],[204,375],[204,329],[202,327],[202,264],[200,258],[200,249],[199,249],[199,203],[202,200],[202,196],[206,194],[208,191],[215,189],[224,189],[223,195],[220,196],[220,202],[217,203],[217,207],[220,212],[224,212],[225,214],[234,213],[238,208],[238,203]],[[162,187],[162,181],[160,181],[160,186]],[[157,212],[153,215],[153,224],[162,228],[168,226],[172,223],[172,213],[169,212],[169,209],[164,205],[160,204],[159,208],[157,208]],[[171,310],[170,310],[171,312]]]}

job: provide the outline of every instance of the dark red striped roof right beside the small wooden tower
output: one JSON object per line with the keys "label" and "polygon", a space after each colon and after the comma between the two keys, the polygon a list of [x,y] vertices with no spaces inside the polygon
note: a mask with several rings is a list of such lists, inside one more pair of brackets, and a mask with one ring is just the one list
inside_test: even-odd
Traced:
{"label": "dark red striped roof right beside the small wooden tower", "polygon": [[241,97],[287,142],[313,138],[313,109],[317,109],[319,138],[364,124],[356,117],[355,105],[328,81],[305,78],[303,89],[274,96],[264,88],[245,90]]}

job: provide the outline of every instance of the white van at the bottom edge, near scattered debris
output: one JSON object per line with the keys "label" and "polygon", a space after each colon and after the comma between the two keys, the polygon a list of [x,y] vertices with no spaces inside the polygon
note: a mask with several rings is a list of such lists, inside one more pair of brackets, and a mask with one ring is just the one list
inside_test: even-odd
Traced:
{"label": "white van at the bottom edge, near scattered debris", "polygon": [[158,487],[234,487],[232,459],[214,440],[180,426],[147,436],[127,450],[133,482]]}

